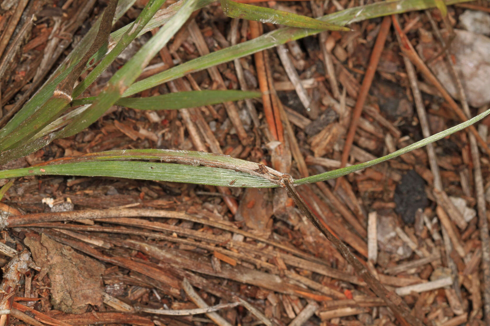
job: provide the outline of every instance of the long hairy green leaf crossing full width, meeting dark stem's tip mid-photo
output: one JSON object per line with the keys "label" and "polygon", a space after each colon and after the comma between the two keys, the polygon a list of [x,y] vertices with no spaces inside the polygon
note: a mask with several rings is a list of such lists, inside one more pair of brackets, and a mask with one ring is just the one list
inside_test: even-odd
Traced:
{"label": "long hairy green leaf crossing full width, meeting dark stem's tip mid-photo", "polygon": [[[294,184],[302,185],[325,181],[366,169],[370,166],[379,164],[406,152],[410,152],[435,142],[454,132],[463,130],[475,122],[485,118],[489,114],[490,109],[480,113],[468,121],[465,121],[464,123],[422,139],[386,156],[350,167],[294,180]],[[191,165],[122,161],[128,159],[157,159],[161,161],[186,162],[191,163]],[[219,166],[219,168],[198,166],[199,164],[215,165]],[[269,173],[261,174],[255,171],[256,167],[258,167],[257,163],[214,153],[170,150],[124,150],[90,153],[80,156],[61,158],[56,161],[48,162],[48,165],[16,170],[3,170],[0,171],[0,178],[56,174],[112,176],[133,179],[209,184],[226,187],[273,188],[279,186],[277,176],[280,178],[282,175],[281,173],[267,168]],[[239,171],[236,171],[235,169]]]}

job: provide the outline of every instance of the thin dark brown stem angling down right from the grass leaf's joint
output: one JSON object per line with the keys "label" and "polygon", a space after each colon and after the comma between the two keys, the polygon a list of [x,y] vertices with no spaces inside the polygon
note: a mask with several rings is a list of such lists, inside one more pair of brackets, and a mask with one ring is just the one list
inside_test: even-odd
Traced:
{"label": "thin dark brown stem angling down right from the grass leaf's joint", "polygon": [[[291,178],[291,180],[293,180],[293,178]],[[330,231],[320,222],[319,218],[310,211],[308,206],[298,195],[294,189],[293,183],[287,178],[284,178],[283,181],[284,189],[288,193],[288,196],[294,199],[294,202],[299,210],[327,239],[332,241],[343,258],[345,258],[345,260],[351,264],[352,267],[354,267],[356,273],[368,284],[371,290],[376,293],[378,297],[383,299],[392,309],[400,324],[405,326],[423,326],[424,324],[420,320],[410,314],[407,304],[405,304],[405,302],[398,295],[393,292],[389,292],[374,276],[371,275],[371,273],[369,273],[368,269],[352,254],[342,240],[337,239],[332,233],[330,233]]]}

